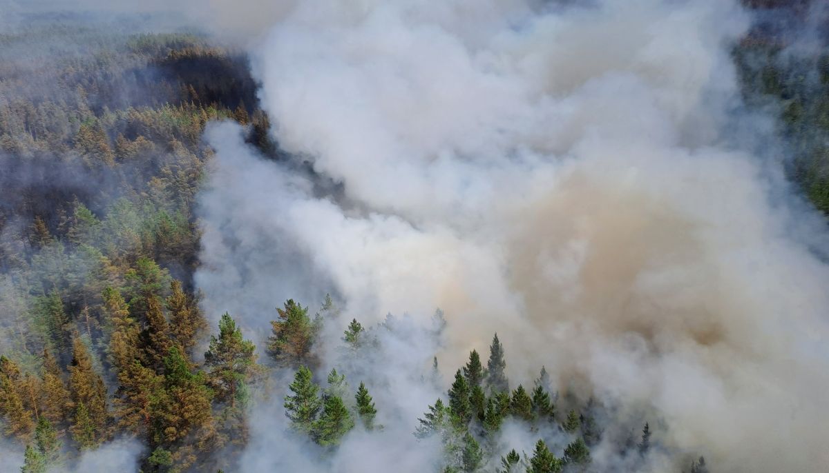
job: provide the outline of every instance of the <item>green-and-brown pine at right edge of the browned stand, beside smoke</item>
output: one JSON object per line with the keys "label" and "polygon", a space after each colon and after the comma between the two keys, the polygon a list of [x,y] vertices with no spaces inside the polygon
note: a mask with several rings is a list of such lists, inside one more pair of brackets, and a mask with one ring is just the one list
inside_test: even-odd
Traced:
{"label": "green-and-brown pine at right edge of the browned stand, beside smoke", "polygon": [[256,364],[256,346],[242,337],[236,322],[224,313],[219,321],[219,337],[212,336],[205,352],[205,366],[209,369],[209,380],[216,389],[216,398],[230,402],[235,408],[236,401],[247,401],[245,386],[259,372]]}

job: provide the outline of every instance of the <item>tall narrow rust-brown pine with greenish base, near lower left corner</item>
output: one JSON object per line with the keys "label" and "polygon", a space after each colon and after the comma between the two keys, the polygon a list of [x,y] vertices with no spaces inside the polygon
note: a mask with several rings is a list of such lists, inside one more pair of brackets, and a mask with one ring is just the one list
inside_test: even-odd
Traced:
{"label": "tall narrow rust-brown pine with greenish base, near lower left corner", "polygon": [[75,336],[72,341],[72,364],[69,366],[69,390],[75,403],[73,436],[82,447],[95,447],[103,440],[101,432],[107,423],[106,387],[92,367],[90,352]]}

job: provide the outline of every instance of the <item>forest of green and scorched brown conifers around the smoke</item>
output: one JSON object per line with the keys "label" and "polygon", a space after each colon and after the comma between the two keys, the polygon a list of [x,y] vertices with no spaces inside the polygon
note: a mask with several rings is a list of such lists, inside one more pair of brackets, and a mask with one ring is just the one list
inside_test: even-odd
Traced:
{"label": "forest of green and scorched brown conifers around the smoke", "polygon": [[[773,115],[788,179],[827,215],[829,35],[818,55],[790,53],[802,7],[745,3],[784,11],[731,51],[746,107]],[[273,300],[270,326],[255,327],[268,336],[255,340],[234,313],[205,313],[194,273],[215,155],[206,127],[236,122],[264,160],[293,158],[245,50],[193,29],[119,25],[38,13],[0,31],[0,453],[23,473],[75,471],[129,438],[143,446],[138,471],[245,471],[253,406],[277,399],[303,455],[347,471],[343,439],[388,435],[383,419],[395,418],[376,395],[393,383],[366,373],[410,337],[444,345],[451,314],[437,309],[426,328],[408,314],[369,323],[320,288],[318,308]],[[434,471],[608,471],[594,462],[608,444],[618,471],[645,471],[654,452],[678,456],[683,473],[718,471],[709,451],[663,443],[664,419],[621,422],[618,406],[558,384],[545,365],[508,379],[510,353],[492,333],[463,365],[420,353],[433,362],[406,374],[440,393],[403,421],[411,442],[439,445]],[[504,442],[517,431],[534,447]]]}

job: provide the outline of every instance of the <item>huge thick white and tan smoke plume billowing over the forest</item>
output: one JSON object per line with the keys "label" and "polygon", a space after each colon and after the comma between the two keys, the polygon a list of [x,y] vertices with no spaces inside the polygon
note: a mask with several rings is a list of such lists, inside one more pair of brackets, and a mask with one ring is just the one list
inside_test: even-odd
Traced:
{"label": "huge thick white and tan smoke plume billowing over the forest", "polygon": [[[408,311],[427,327],[440,307],[444,366],[498,332],[514,380],[546,365],[559,389],[649,413],[671,451],[720,471],[827,465],[829,268],[797,233],[817,223],[771,202],[783,179],[726,132],[729,51],[749,25],[735,2],[297,2],[274,22],[254,48],[274,136],[342,195],[213,127],[208,313],[265,330],[281,300],[331,291],[349,319]],[[341,451],[423,470],[434,450],[410,432],[436,393],[391,381],[398,363],[371,370],[395,386],[381,413],[400,418]],[[290,454],[263,438],[251,471]]]}

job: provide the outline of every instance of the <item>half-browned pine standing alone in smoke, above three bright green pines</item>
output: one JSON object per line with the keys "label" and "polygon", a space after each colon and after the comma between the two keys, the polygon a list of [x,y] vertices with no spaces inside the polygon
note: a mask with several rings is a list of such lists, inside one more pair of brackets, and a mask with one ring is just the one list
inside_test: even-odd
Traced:
{"label": "half-browned pine standing alone in smoke, above three bright green pines", "polygon": [[277,308],[279,320],[271,321],[272,334],[268,338],[268,352],[280,366],[308,363],[314,339],[314,326],[308,318],[308,308],[288,299],[284,309]]}

